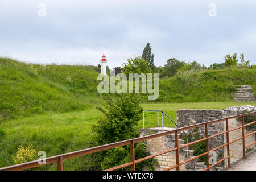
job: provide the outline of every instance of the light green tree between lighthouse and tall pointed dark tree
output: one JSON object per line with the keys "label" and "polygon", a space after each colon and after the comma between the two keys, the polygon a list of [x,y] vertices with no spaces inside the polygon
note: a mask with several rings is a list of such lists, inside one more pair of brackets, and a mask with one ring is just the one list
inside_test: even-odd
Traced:
{"label": "light green tree between lighthouse and tall pointed dark tree", "polygon": [[151,69],[147,67],[147,61],[143,57],[137,56],[134,58],[127,58],[127,64],[123,63],[122,73],[129,76],[129,73],[151,73]]}

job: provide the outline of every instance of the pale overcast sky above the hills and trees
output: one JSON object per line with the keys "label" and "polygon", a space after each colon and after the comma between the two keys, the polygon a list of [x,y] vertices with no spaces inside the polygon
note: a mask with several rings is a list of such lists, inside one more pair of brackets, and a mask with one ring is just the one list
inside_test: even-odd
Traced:
{"label": "pale overcast sky above the hills and trees", "polygon": [[157,66],[209,66],[234,52],[256,64],[255,0],[1,0],[0,27],[0,56],[29,63],[97,65],[105,53],[114,68],[149,42]]}

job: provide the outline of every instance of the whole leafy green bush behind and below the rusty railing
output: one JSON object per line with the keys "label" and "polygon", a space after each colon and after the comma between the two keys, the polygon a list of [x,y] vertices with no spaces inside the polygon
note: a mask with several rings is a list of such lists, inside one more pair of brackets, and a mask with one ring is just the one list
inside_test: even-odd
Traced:
{"label": "whole leafy green bush behind and below the rusty railing", "polygon": [[[98,144],[108,144],[138,137],[135,126],[142,119],[141,96],[138,94],[105,94],[104,107],[97,107],[105,117],[101,118],[93,131],[96,133]],[[140,159],[150,155],[146,152],[146,143],[140,142],[134,146],[135,159]],[[112,168],[120,164],[130,162],[130,147],[116,147],[102,152],[102,169]],[[157,164],[155,159],[148,159],[135,165],[141,170],[144,165],[154,169],[153,164]],[[123,168],[122,170],[127,170]]]}

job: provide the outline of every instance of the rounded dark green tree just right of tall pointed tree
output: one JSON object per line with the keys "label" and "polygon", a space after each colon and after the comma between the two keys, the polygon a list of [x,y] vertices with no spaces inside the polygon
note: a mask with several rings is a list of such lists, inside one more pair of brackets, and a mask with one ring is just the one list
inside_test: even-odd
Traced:
{"label": "rounded dark green tree just right of tall pointed tree", "polygon": [[174,76],[177,73],[177,69],[184,67],[185,62],[181,62],[175,58],[170,58],[164,65],[164,73],[166,76]]}

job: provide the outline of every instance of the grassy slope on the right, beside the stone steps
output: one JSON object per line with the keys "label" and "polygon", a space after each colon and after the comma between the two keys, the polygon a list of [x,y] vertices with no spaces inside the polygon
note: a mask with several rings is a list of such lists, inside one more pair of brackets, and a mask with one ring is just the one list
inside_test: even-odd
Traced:
{"label": "grassy slope on the right, beside the stone steps", "polygon": [[232,68],[183,74],[159,82],[159,101],[232,101],[234,85],[253,85],[256,95],[256,69]]}

